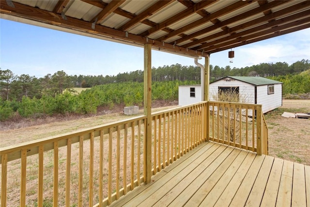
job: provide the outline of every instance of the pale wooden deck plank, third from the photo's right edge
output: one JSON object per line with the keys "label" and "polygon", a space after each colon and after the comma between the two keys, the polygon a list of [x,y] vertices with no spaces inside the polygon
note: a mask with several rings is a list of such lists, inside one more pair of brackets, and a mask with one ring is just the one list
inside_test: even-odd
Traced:
{"label": "pale wooden deck plank, third from the photo's right edge", "polygon": [[276,207],[290,207],[293,188],[294,162],[284,160]]}

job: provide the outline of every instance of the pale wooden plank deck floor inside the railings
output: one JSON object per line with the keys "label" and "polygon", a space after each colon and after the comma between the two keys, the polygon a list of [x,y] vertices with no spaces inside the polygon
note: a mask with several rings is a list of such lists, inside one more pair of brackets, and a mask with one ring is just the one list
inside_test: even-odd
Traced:
{"label": "pale wooden plank deck floor inside the railings", "polygon": [[310,207],[310,166],[206,142],[111,206]]}

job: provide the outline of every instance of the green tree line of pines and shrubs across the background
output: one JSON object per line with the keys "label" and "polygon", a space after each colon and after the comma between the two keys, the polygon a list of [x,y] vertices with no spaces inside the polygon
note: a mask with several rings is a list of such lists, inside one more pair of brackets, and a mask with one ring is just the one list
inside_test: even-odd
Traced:
{"label": "green tree line of pines and shrubs across the background", "polygon": [[[310,93],[310,62],[259,64],[246,68],[210,65],[210,82],[225,76],[262,76],[283,82],[283,96]],[[200,84],[201,69],[173,64],[152,68],[152,99],[177,100],[178,86]],[[91,88],[80,94],[74,87]],[[116,76],[69,76],[64,71],[43,78],[26,74],[16,76],[0,69],[0,120],[20,115],[33,117],[55,113],[96,113],[100,106],[141,105],[143,71]],[[290,96],[289,96],[290,97]],[[294,98],[294,97],[293,97]]]}

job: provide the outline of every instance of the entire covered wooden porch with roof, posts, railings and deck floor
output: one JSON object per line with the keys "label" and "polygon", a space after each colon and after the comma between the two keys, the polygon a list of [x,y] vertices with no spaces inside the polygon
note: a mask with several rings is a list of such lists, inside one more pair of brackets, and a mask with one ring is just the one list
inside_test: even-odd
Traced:
{"label": "entire covered wooden porch with roof, posts, railings and deck floor", "polygon": [[[218,206],[229,201],[235,206],[310,203],[310,167],[268,156],[268,128],[262,105],[208,100],[212,53],[309,28],[310,1],[1,0],[0,3],[1,18],[144,48],[141,60],[144,115],[0,148],[1,206],[41,207],[47,201],[53,206],[120,206],[121,201],[129,202],[132,196],[141,193],[139,201],[133,201],[137,206],[152,198],[150,193],[155,191],[164,193],[160,198],[165,205],[182,201],[198,206],[203,202],[201,199],[208,202],[211,198]],[[204,57],[202,102],[152,113],[152,49],[193,60]],[[256,114],[256,119],[249,123],[246,118],[243,122],[237,111],[252,113],[253,117]],[[73,154],[72,149],[78,149],[78,153]],[[205,162],[199,159],[200,155]],[[48,166],[47,156],[50,156]],[[31,177],[30,164],[37,167]],[[73,176],[72,168],[77,165],[78,172]],[[47,171],[50,166],[52,173]],[[242,174],[235,177],[233,170],[238,167]],[[191,171],[194,168],[199,171]],[[14,174],[8,173],[12,169]],[[195,173],[189,175],[190,172]],[[178,185],[182,177],[199,181],[200,172],[214,175],[205,180],[213,186],[224,178],[220,181],[221,188],[214,188],[222,191],[211,193],[208,188],[212,185],[208,183],[198,191],[197,182],[190,179]],[[47,176],[51,177],[46,179]],[[171,176],[175,177],[173,184],[169,182]],[[12,189],[16,180],[17,190]],[[234,188],[228,187],[229,196],[222,199],[228,180]],[[36,191],[29,192],[30,181],[31,186],[37,186]],[[149,189],[144,191],[145,187]],[[197,199],[191,200],[190,194],[182,196],[183,191],[194,193],[191,198]],[[29,199],[30,193],[34,193],[34,201]],[[176,195],[168,197],[174,193],[181,195],[181,199]]]}

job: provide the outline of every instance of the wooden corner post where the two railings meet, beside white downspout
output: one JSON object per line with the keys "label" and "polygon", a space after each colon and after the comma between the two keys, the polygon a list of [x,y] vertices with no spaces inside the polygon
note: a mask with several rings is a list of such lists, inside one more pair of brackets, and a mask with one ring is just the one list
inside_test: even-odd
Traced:
{"label": "wooden corner post where the two railings meet, beside white downspout", "polygon": [[205,141],[209,141],[210,139],[210,107],[209,107],[209,85],[210,85],[210,56],[208,55],[204,59],[204,83],[202,86],[204,87],[204,97],[202,97],[204,101],[207,101],[206,109],[205,109],[205,118],[204,118],[204,139]]}

